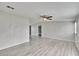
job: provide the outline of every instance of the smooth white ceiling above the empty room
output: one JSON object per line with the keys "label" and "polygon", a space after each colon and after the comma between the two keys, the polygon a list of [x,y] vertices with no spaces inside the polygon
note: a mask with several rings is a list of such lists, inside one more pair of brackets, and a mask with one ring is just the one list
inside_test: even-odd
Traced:
{"label": "smooth white ceiling above the empty room", "polygon": [[[7,5],[14,10],[6,8]],[[40,20],[40,15],[51,15],[55,21],[73,21],[79,14],[78,2],[0,2],[0,10],[28,17],[31,21]]]}

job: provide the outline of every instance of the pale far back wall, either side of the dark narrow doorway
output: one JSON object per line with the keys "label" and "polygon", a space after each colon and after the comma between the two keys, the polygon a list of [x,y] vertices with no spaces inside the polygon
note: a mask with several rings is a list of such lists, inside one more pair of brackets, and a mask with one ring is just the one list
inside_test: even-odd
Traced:
{"label": "pale far back wall, either side of the dark narrow doorway", "polygon": [[[42,37],[66,40],[66,41],[74,41],[74,23],[70,21],[55,21],[55,22],[43,22],[40,23],[42,25]],[[39,24],[35,24],[32,26],[33,31],[32,34],[37,36],[37,26]],[[35,29],[35,30],[34,30]]]}

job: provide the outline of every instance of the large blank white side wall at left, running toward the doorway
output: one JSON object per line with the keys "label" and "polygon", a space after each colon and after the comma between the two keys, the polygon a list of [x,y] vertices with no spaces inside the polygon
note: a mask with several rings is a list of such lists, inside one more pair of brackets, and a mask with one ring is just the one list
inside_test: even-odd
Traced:
{"label": "large blank white side wall at left, running toward the doorway", "polygon": [[0,50],[29,42],[28,20],[0,12]]}

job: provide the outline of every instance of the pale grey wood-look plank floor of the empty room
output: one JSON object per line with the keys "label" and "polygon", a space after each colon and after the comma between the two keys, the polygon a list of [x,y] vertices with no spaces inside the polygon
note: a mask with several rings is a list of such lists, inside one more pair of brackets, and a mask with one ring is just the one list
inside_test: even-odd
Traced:
{"label": "pale grey wood-look plank floor of the empty room", "polygon": [[32,38],[29,45],[23,43],[0,50],[0,56],[78,56],[73,42],[47,38]]}

